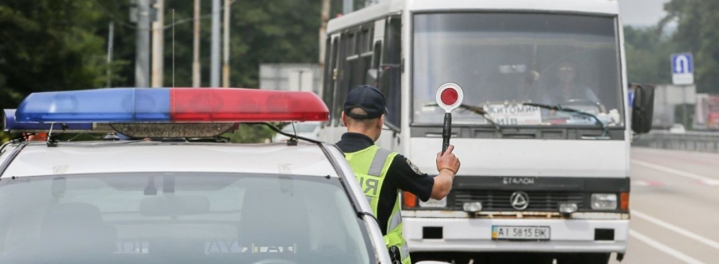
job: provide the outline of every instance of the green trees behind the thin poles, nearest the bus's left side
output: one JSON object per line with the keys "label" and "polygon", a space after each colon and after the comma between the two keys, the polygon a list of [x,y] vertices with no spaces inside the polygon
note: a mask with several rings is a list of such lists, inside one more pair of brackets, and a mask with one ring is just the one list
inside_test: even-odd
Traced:
{"label": "green trees behind the thin poles, nearest the bus's left side", "polygon": [[[210,74],[211,1],[202,2],[201,75]],[[316,63],[320,4],[317,0],[236,0],[231,7],[230,86],[259,87],[260,63]],[[165,24],[175,20],[175,86],[192,84],[193,0],[166,0]],[[165,86],[172,85],[172,29],[165,31]]]}

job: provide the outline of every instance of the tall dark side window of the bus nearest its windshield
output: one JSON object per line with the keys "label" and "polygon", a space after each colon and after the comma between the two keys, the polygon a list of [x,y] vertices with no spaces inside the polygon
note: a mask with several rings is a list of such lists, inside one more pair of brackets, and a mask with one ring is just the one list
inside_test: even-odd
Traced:
{"label": "tall dark side window of the bus nearest its windshield", "polygon": [[393,126],[401,127],[402,117],[402,19],[393,16],[385,27],[385,47],[380,64],[380,90],[387,98],[390,112],[385,119]]}

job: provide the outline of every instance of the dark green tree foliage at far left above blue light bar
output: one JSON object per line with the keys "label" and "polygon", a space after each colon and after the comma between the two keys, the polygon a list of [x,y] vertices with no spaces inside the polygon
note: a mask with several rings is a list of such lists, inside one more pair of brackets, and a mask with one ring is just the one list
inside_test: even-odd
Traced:
{"label": "dark green tree foliage at far left above blue light bar", "polygon": [[101,17],[94,1],[2,1],[0,109],[16,108],[33,92],[104,83],[105,39],[93,27]]}

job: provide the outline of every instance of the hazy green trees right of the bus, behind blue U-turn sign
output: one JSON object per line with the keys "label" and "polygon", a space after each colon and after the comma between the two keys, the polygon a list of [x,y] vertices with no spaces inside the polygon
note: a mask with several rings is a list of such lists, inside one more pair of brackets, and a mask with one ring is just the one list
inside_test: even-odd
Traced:
{"label": "hazy green trees right of the bus, behind blue U-turn sign", "polygon": [[664,10],[653,27],[624,27],[629,81],[672,83],[669,56],[692,52],[697,93],[719,94],[719,1],[672,0]]}

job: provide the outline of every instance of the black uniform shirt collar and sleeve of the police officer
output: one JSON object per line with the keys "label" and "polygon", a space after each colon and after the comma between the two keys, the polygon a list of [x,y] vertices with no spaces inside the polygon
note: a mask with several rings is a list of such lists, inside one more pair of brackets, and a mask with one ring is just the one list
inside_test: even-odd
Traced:
{"label": "black uniform shirt collar and sleeve of the police officer", "polygon": [[[337,142],[337,146],[344,153],[361,151],[372,145],[375,145],[372,138],[362,133],[344,133],[342,140]],[[397,202],[398,189],[411,192],[426,202],[431,197],[433,186],[434,178],[419,171],[405,156],[395,156],[385,175],[380,189],[380,201],[377,203],[377,220],[380,221],[382,235],[387,235],[387,224]]]}

